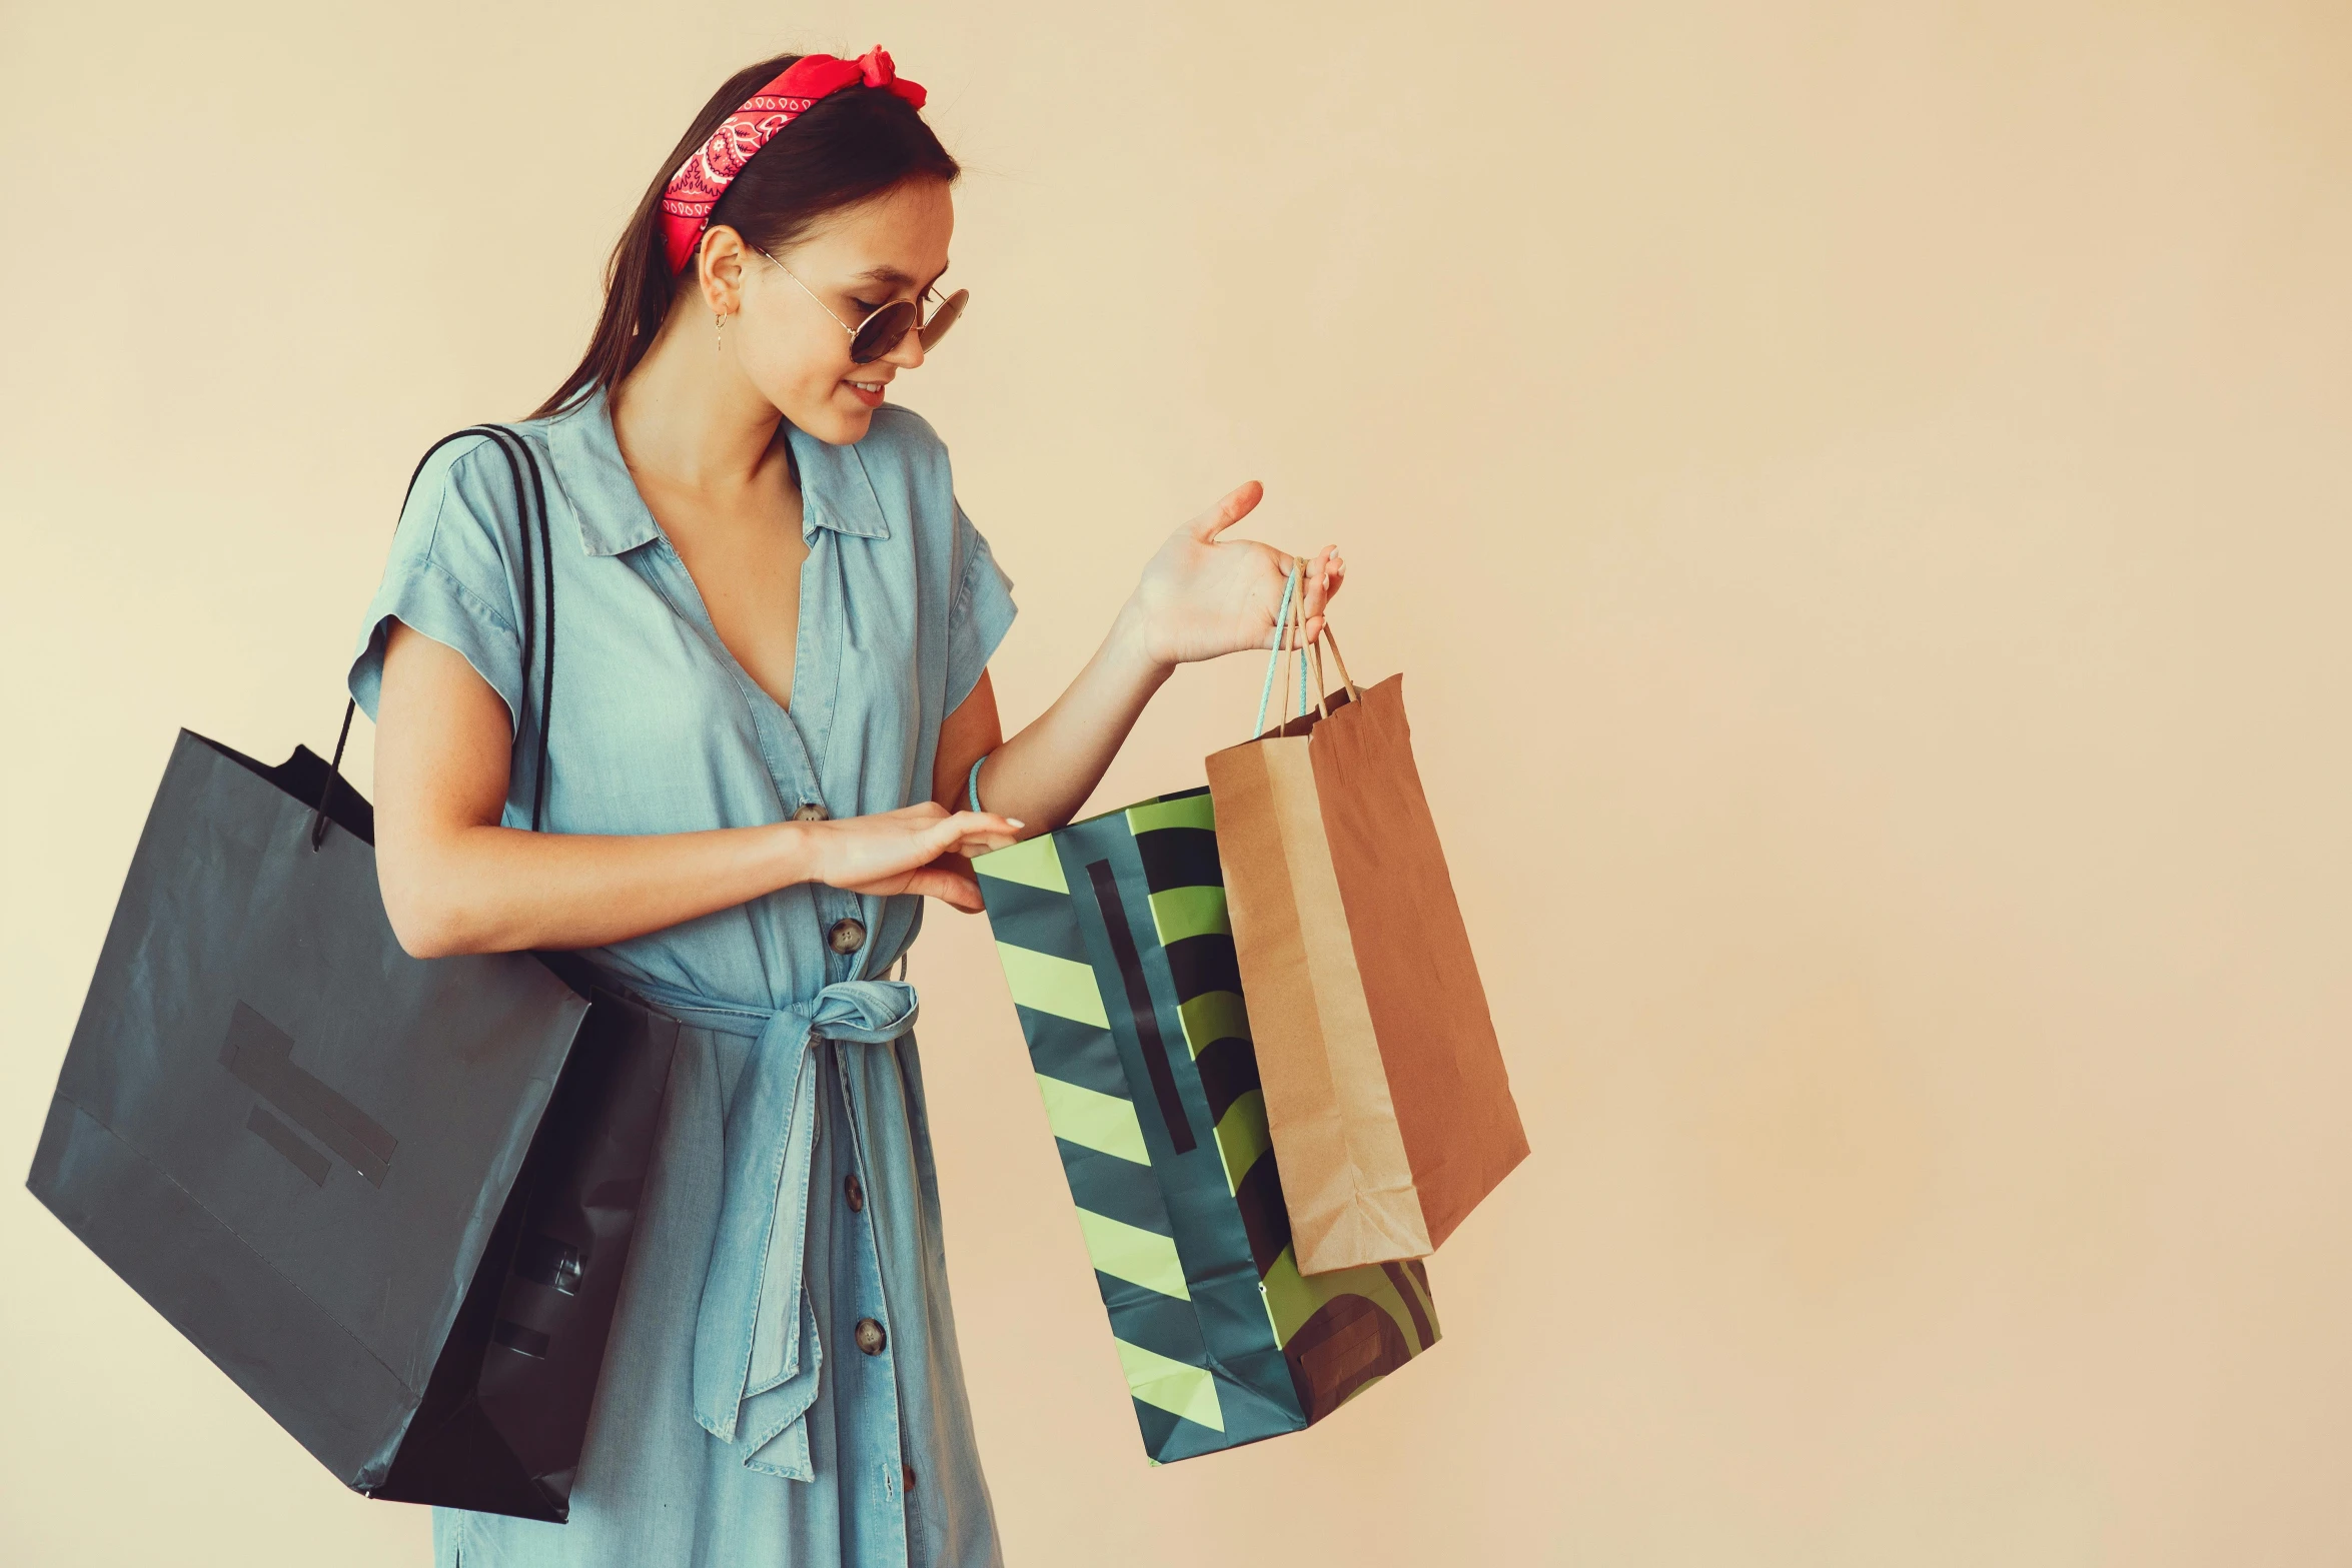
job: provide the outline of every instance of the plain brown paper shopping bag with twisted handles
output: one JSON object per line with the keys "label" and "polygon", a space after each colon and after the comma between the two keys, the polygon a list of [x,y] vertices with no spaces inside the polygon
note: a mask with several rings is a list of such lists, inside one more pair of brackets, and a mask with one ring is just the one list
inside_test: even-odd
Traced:
{"label": "plain brown paper shopping bag with twisted handles", "polygon": [[[1284,592],[1268,661],[1298,649]],[[1315,649],[1322,675],[1322,644]],[[1258,1074],[1305,1274],[1435,1251],[1526,1159],[1486,990],[1421,795],[1404,677],[1209,757]],[[1301,686],[1305,654],[1296,651]],[[1315,682],[1322,691],[1322,679]]]}

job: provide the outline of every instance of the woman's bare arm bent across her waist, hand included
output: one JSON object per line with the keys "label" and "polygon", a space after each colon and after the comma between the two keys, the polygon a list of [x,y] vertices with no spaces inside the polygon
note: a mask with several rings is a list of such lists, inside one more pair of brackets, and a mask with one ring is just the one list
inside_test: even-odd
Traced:
{"label": "woman's bare arm bent across her waist, hand included", "polygon": [[[941,856],[1009,844],[1002,816],[906,806],[833,823],[595,837],[499,827],[506,703],[454,649],[393,623],[376,703],[376,877],[416,957],[602,947],[795,882],[981,905]],[[969,766],[969,764],[967,764]]]}

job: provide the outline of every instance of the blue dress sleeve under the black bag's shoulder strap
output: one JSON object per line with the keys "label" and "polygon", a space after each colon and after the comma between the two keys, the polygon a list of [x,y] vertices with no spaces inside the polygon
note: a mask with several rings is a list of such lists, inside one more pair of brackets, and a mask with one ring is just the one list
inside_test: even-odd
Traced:
{"label": "blue dress sleeve under the black bag's shoulder strap", "polygon": [[[508,541],[520,520],[506,517],[480,454],[489,437],[452,442],[435,454],[409,491],[393,531],[383,583],[360,621],[360,651],[350,663],[350,696],[369,719],[383,689],[383,644],[400,621],[456,649],[506,703],[508,726],[522,710],[522,632],[515,628],[515,581]],[[487,465],[503,477],[503,468]]]}

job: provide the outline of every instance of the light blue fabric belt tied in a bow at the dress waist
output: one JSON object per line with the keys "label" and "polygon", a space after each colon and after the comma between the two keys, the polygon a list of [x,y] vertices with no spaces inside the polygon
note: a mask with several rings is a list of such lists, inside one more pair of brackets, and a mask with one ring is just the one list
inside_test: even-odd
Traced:
{"label": "light blue fabric belt tied in a bow at the dress waist", "polygon": [[891,1044],[915,1027],[915,987],[835,980],[783,1009],[642,980],[630,990],[682,1023],[727,1034],[764,1018],[727,1107],[727,1185],[694,1321],[694,1420],[724,1443],[741,1434],[750,1469],[811,1481],[807,1415],[823,1363],[804,1284],[818,1124],[811,1044]]}

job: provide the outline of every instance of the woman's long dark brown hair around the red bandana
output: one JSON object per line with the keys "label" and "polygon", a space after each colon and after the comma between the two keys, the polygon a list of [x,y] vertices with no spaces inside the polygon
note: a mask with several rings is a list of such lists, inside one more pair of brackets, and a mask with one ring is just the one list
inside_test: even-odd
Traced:
{"label": "woman's long dark brown hair around the red bandana", "polygon": [[[621,242],[612,247],[604,268],[604,313],[597,317],[595,336],[588,339],[588,353],[532,418],[560,414],[597,388],[619,386],[637,369],[677,296],[677,275],[670,273],[661,247],[661,193],[670,174],[720,129],[727,115],[743,108],[750,94],[783,75],[797,59],[779,54],[736,71],[694,115],[694,125],[661,160],[661,169],[637,200]],[[811,103],[753,153],[710,209],[710,223],[727,223],[753,244],[776,252],[826,214],[882,195],[901,181],[953,181],[957,174],[962,169],[913,103],[880,87],[851,85]]]}

